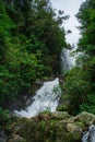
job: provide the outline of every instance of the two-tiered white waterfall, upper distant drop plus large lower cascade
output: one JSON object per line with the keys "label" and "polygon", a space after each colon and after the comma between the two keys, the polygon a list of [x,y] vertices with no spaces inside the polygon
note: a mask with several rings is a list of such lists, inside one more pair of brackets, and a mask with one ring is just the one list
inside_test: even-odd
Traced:
{"label": "two-tiered white waterfall, upper distant drop plus large lower cascade", "polygon": [[[74,58],[70,56],[70,51],[67,49],[62,50],[60,58],[62,70],[69,70],[74,64]],[[57,78],[54,81],[44,83],[33,97],[31,106],[26,107],[25,110],[14,110],[14,113],[20,117],[31,118],[47,109],[56,111],[60,95],[61,88]]]}

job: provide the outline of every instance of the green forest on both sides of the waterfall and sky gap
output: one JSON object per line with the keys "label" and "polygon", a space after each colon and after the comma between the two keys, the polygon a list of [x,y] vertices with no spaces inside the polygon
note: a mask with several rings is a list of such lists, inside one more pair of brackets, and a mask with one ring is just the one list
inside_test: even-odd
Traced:
{"label": "green forest on both sides of the waterfall and sky gap", "polygon": [[[95,0],[83,2],[75,16],[81,38],[73,54],[80,56],[76,66],[63,73],[67,110],[95,114]],[[32,95],[37,80],[60,74],[60,52],[71,47],[62,25],[68,19],[63,11],[57,13],[49,0],[0,0],[1,118],[10,102]]]}

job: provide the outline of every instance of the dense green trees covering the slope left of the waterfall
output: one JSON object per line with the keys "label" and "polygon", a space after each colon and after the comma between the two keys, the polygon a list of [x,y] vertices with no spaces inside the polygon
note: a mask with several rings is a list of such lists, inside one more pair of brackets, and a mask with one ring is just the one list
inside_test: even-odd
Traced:
{"label": "dense green trees covering the slope left of the waterfall", "polygon": [[58,73],[66,19],[49,0],[0,0],[0,106]]}

